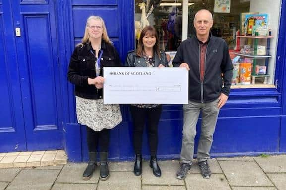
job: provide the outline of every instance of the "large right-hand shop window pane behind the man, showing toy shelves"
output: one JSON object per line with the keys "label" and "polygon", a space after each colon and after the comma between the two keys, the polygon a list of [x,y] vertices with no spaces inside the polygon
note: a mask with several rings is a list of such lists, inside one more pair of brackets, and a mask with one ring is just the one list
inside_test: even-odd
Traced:
{"label": "large right-hand shop window pane behind the man, showing toy shelves", "polygon": [[[230,57],[233,60],[232,87],[244,88],[256,84],[274,83],[275,39],[277,38],[280,0],[201,0],[189,2],[192,2],[192,5],[188,6],[188,38],[195,35],[193,26],[195,13],[202,8],[211,11],[214,20],[211,33],[213,36],[226,41]],[[262,17],[263,19],[258,24]],[[271,21],[269,20],[270,17],[272,18]],[[255,35],[268,36],[270,29],[271,35],[273,35],[271,40],[270,38],[249,37]],[[242,37],[237,37],[239,35]],[[247,75],[245,71],[249,71]]]}

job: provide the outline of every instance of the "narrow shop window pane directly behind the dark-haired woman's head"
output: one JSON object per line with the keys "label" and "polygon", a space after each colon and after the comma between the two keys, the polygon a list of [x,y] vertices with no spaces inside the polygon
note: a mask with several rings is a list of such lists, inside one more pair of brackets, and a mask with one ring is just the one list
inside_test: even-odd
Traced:
{"label": "narrow shop window pane directly behind the dark-haired woman's head", "polygon": [[135,0],[136,47],[146,25],[157,30],[160,49],[176,51],[182,41],[182,0]]}

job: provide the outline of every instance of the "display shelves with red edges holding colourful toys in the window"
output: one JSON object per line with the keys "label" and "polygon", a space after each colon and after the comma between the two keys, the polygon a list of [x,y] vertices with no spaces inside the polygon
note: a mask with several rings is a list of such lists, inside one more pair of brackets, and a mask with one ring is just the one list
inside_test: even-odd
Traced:
{"label": "display shelves with red edges holding colourful toys in the window", "polygon": [[[263,79],[263,84],[268,82],[270,75],[267,74],[267,69],[271,57],[269,48],[270,38],[272,38],[268,20],[268,14],[259,14],[258,12],[241,13],[241,31],[237,31],[236,34],[236,52],[234,54],[244,58],[252,58],[252,63],[251,69],[249,69],[249,62],[240,62],[240,84],[255,84],[256,78],[259,79],[259,82],[261,82],[260,79]],[[240,46],[241,38],[243,39],[242,46]],[[266,39],[266,43],[261,39]],[[265,59],[264,64],[260,61],[258,65],[257,59]],[[251,73],[251,82],[249,81],[248,71]],[[232,83],[239,84],[234,78]]]}

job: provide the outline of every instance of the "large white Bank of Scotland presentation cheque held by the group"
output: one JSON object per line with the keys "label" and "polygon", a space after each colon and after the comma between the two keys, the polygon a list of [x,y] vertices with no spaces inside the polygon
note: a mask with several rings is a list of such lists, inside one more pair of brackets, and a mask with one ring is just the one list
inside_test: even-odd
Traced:
{"label": "large white Bank of Scotland presentation cheque held by the group", "polygon": [[104,104],[187,104],[186,68],[104,67]]}

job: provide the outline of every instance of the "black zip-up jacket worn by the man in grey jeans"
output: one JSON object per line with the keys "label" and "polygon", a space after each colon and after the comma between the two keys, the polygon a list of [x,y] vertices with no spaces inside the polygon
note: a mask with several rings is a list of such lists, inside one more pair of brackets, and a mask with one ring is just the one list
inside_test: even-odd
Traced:
{"label": "black zip-up jacket worn by the man in grey jeans", "polygon": [[233,64],[228,46],[222,38],[209,37],[203,81],[200,79],[200,45],[196,35],[182,42],[172,63],[174,67],[179,67],[183,62],[190,68],[189,100],[211,102],[221,93],[229,96]]}

